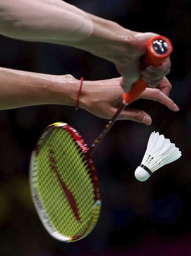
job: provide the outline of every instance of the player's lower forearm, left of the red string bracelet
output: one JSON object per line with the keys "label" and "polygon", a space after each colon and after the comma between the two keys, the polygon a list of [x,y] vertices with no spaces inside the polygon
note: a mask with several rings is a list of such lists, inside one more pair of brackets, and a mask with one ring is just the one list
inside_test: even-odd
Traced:
{"label": "player's lower forearm, left of the red string bracelet", "polygon": [[71,75],[0,68],[0,110],[42,104],[75,106],[79,85]]}

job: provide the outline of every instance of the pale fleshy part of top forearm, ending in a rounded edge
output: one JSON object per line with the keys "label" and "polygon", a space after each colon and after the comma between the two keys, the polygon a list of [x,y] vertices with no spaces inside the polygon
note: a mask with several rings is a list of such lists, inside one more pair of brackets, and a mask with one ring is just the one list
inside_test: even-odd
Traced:
{"label": "pale fleshy part of top forearm, ending in a rounded edge", "polygon": [[0,0],[0,33],[21,40],[62,43],[89,37],[86,12],[61,0]]}

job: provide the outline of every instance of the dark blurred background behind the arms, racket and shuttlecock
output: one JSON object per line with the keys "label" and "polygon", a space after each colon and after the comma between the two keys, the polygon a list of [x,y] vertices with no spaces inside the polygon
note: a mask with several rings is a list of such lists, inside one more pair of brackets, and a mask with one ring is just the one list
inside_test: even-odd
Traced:
{"label": "dark blurred background behind the arms, racket and shuttlecock", "polygon": [[[151,126],[118,121],[95,152],[102,210],[95,230],[64,244],[48,235],[30,198],[30,154],[43,128],[63,121],[90,145],[107,120],[68,106],[0,111],[0,256],[191,255],[191,0],[71,0],[79,8],[134,31],[169,37],[174,51],[170,97],[178,113],[154,101],[131,107],[148,112]],[[56,18],[55,18],[56,19]],[[0,36],[0,66],[77,79],[118,77],[113,64],[65,46]],[[170,138],[183,156],[139,182],[134,171],[152,131]]]}

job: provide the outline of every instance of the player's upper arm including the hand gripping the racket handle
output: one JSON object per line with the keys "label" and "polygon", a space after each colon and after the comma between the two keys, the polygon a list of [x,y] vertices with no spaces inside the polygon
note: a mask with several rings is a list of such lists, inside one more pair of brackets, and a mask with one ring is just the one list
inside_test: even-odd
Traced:
{"label": "player's upper arm including the hand gripping the racket handle", "polygon": [[[21,40],[65,44],[105,58],[123,76],[124,91],[129,91],[140,76],[140,57],[155,35],[130,31],[61,0],[0,0],[0,33]],[[170,59],[160,67],[142,71],[143,79],[156,86],[169,73]]]}

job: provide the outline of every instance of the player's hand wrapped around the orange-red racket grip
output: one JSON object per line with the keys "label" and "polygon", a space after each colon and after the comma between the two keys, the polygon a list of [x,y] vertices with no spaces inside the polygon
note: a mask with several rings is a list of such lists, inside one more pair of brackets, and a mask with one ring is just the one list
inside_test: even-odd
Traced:
{"label": "player's hand wrapped around the orange-red racket grip", "polygon": [[[156,87],[160,84],[163,77],[170,72],[171,62],[167,58],[161,66],[149,66],[141,70],[141,58],[146,53],[146,47],[149,39],[156,36],[154,33],[138,33],[133,32],[131,36],[131,51],[127,51],[128,55],[123,59],[119,57],[115,64],[120,75],[122,75],[121,87],[124,92],[129,92],[134,82],[138,80],[140,75],[142,79],[148,83],[149,87]],[[121,60],[120,60],[121,59]]]}

